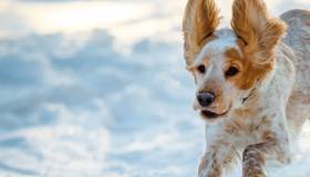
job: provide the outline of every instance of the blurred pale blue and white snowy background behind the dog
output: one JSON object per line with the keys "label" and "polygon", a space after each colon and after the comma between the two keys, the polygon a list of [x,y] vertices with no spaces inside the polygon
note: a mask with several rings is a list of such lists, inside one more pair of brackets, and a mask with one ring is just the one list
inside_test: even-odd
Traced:
{"label": "blurred pale blue and white snowy background behind the dog", "polygon": [[[196,176],[204,122],[183,60],[185,3],[1,0],[0,176]],[[229,27],[231,0],[218,4]],[[310,176],[309,127],[275,176]]]}

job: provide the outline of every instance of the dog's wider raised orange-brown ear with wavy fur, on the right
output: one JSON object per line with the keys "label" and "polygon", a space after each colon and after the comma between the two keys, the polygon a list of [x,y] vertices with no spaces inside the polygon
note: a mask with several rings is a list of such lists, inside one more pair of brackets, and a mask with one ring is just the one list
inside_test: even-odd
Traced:
{"label": "dog's wider raised orange-brown ear with wavy fur, on the right", "polygon": [[273,49],[286,32],[286,24],[270,18],[262,0],[235,0],[231,27],[244,41],[245,52],[255,54],[257,62],[269,62]]}

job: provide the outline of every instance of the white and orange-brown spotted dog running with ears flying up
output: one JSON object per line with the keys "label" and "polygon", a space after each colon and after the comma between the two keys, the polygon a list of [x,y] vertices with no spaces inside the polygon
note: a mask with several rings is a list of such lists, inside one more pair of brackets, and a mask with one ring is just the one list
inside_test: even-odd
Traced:
{"label": "white and orange-brown spotted dog running with ears flying up", "polygon": [[262,0],[235,0],[220,29],[214,0],[188,0],[184,56],[206,121],[199,177],[221,177],[241,156],[244,177],[266,177],[266,162],[291,162],[310,117],[310,12],[271,17]]}

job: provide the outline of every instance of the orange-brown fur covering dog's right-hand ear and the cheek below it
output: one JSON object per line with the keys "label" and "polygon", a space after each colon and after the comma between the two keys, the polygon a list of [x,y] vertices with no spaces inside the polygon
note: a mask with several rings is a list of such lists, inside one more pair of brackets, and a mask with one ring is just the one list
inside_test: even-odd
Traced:
{"label": "orange-brown fur covering dog's right-hand ear and the cheek below it", "polygon": [[264,1],[235,0],[231,27],[239,38],[237,43],[244,54],[244,70],[231,82],[238,88],[248,90],[273,69],[273,50],[286,25],[279,19],[269,18]]}

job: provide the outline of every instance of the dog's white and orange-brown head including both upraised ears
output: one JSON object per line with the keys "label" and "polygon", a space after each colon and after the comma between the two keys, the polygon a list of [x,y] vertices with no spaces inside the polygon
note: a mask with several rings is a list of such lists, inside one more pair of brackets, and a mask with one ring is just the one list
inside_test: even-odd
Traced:
{"label": "dog's white and orange-brown head including both upraised ears", "polygon": [[183,24],[186,64],[197,85],[195,108],[209,121],[240,108],[267,82],[286,31],[262,0],[235,0],[232,30],[216,30],[218,15],[214,0],[189,0]]}

